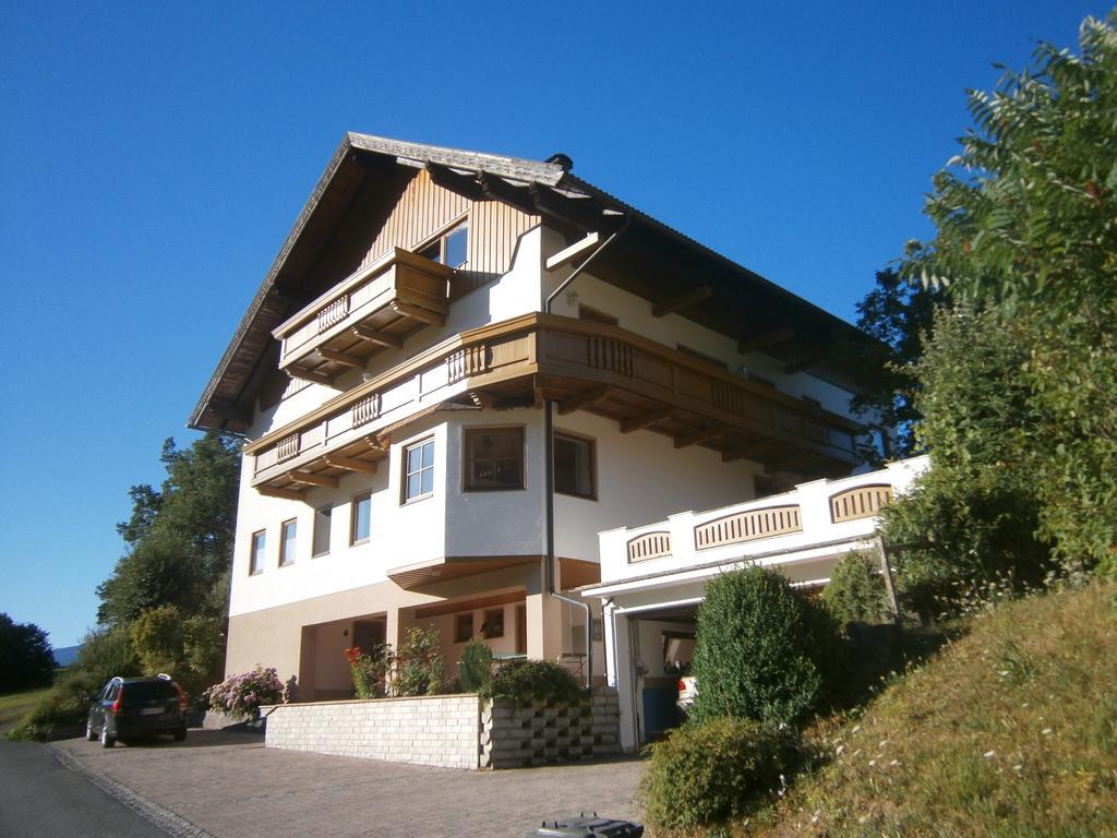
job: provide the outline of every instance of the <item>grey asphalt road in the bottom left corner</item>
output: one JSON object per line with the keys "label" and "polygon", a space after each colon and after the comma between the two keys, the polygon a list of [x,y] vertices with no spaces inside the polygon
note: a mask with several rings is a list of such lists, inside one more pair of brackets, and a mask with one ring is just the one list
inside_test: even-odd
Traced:
{"label": "grey asphalt road in the bottom left corner", "polygon": [[41,745],[0,741],[0,836],[166,838]]}

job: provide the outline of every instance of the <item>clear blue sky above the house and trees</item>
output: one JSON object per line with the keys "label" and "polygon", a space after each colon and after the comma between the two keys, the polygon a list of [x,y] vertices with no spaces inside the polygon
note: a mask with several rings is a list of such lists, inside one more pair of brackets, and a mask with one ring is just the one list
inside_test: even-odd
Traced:
{"label": "clear blue sky above the house and trees", "polygon": [[[774,7],[781,6],[776,10]],[[928,232],[963,91],[1106,6],[0,6],[0,611],[95,622],[344,131],[543,159],[853,318]]]}

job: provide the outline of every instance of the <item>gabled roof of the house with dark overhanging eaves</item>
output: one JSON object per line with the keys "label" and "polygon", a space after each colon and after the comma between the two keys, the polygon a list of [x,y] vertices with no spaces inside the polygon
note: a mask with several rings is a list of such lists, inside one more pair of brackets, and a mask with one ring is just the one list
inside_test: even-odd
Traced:
{"label": "gabled roof of the house with dark overhanging eaves", "polygon": [[256,389],[275,352],[271,330],[313,298],[303,287],[304,276],[366,179],[390,177],[400,166],[427,169],[436,183],[466,198],[498,200],[542,216],[572,237],[617,230],[627,218],[623,236],[594,263],[595,275],[665,305],[698,288],[699,302],[686,316],[738,339],[760,331],[779,336],[781,328],[789,333],[798,326],[801,337],[785,339],[782,351],[776,344],[766,351],[790,363],[802,362],[804,369],[811,359],[821,358],[820,350],[837,333],[857,334],[838,317],[571,174],[565,155],[535,161],[347,133],[260,283],[190,427],[247,427]]}

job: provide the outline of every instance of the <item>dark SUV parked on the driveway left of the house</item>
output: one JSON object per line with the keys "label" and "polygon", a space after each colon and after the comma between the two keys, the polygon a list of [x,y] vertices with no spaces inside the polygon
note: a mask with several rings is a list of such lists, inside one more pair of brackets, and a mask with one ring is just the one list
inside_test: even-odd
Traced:
{"label": "dark SUV parked on the driveway left of the house", "polygon": [[171,733],[187,737],[187,694],[166,675],[157,678],[113,678],[94,698],[85,737],[112,747],[118,739]]}

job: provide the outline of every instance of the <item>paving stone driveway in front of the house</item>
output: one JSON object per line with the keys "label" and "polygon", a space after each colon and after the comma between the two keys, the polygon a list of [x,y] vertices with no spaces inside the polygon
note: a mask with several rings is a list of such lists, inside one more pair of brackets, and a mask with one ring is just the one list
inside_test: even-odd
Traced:
{"label": "paving stone driveway in front of the house", "polygon": [[256,734],[194,730],[182,744],[55,747],[214,838],[524,836],[543,818],[583,810],[639,820],[637,760],[455,771],[277,751]]}

